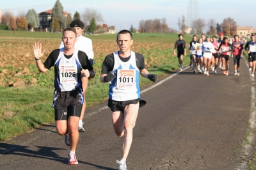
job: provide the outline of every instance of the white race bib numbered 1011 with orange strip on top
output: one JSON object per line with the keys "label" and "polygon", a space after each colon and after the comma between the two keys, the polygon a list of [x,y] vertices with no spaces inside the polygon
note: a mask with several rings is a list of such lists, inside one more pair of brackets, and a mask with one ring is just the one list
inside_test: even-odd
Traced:
{"label": "white race bib numbered 1011 with orange strip on top", "polygon": [[135,86],[136,70],[117,70],[117,86],[118,89],[129,89]]}

